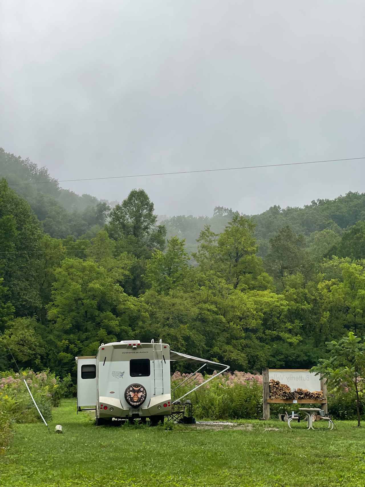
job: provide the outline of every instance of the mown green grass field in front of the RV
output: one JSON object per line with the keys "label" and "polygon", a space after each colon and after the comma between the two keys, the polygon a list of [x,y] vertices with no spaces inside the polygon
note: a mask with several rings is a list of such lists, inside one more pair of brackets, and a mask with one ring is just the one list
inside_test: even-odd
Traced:
{"label": "mown green grass field in front of the RV", "polygon": [[[252,431],[166,431],[96,428],[75,410],[75,401],[63,401],[51,433],[40,423],[17,426],[0,458],[2,487],[365,486],[365,428],[352,421],[333,431],[306,431],[304,422],[290,431],[276,420],[247,421]],[[53,432],[56,424],[64,434]]]}

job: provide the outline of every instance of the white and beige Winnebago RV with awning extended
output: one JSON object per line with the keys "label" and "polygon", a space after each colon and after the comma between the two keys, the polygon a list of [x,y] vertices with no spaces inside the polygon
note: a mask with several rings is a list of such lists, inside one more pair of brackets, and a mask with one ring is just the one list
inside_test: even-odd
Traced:
{"label": "white and beige Winnebago RV with awning extended", "polygon": [[[173,405],[214,377],[227,365],[170,350],[167,343],[123,340],[102,343],[96,356],[75,357],[77,362],[77,412],[95,410],[96,425],[112,418],[150,418],[157,423],[171,414]],[[214,375],[189,393],[171,400],[170,361],[199,364]],[[178,386],[179,387],[179,386]]]}

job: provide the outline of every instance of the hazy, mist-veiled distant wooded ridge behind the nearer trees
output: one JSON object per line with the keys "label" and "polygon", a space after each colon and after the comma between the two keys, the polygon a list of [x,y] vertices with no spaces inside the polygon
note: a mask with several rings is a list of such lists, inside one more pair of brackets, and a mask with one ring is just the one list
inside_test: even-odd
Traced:
{"label": "hazy, mist-veiled distant wooded ridge behind the nearer trees", "polygon": [[[118,201],[99,201],[90,194],[79,196],[63,189],[47,168],[39,169],[29,159],[21,159],[1,148],[0,174],[30,203],[44,231],[51,237],[72,235],[73,238],[91,239],[108,222],[110,209],[118,204]],[[24,181],[48,183],[19,184]],[[166,226],[167,238],[178,236],[185,239],[190,253],[196,250],[197,239],[205,225],[220,233],[236,213],[244,214],[237,208],[216,206],[208,215],[158,215],[157,224]],[[303,207],[274,205],[262,213],[245,216],[256,224],[260,256],[267,254],[269,240],[287,225],[296,234],[306,237],[307,246],[315,247],[315,242],[320,242],[318,249],[312,250],[324,254],[339,240],[344,230],[358,221],[365,221],[365,193],[349,191],[333,200],[316,198]]]}

